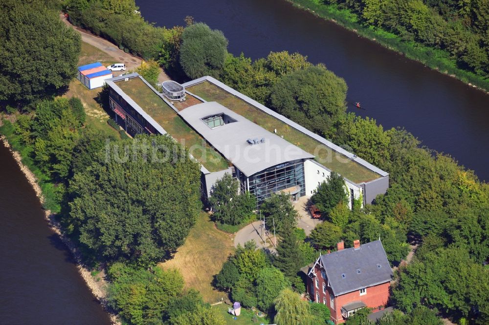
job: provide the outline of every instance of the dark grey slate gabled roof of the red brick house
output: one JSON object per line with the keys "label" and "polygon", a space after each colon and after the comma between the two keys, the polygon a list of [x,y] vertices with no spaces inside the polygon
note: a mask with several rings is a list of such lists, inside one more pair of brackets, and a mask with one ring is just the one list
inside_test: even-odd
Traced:
{"label": "dark grey slate gabled roof of the red brick house", "polygon": [[378,240],[321,255],[334,296],[391,281],[392,269]]}

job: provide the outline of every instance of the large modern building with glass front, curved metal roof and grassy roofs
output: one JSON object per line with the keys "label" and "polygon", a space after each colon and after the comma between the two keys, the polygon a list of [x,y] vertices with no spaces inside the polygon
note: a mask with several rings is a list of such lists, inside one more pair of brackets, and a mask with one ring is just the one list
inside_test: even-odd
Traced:
{"label": "large modern building with glass front, curved metal roof and grassy roofs", "polygon": [[127,132],[168,133],[189,148],[201,164],[204,199],[225,173],[258,204],[278,192],[293,201],[311,196],[332,171],[345,179],[350,206],[358,198],[371,203],[387,190],[388,173],[212,77],[172,81],[164,94],[136,73],[106,82],[116,122]]}

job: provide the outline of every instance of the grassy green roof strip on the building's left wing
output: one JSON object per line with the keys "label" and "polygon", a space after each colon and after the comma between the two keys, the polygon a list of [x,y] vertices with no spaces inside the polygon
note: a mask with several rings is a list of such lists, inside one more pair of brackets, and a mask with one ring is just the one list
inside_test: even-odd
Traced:
{"label": "grassy green roof strip on the building's left wing", "polygon": [[175,140],[189,148],[194,158],[210,172],[226,169],[229,165],[222,155],[195,132],[177,113],[141,79],[117,81],[129,97],[165,129]]}

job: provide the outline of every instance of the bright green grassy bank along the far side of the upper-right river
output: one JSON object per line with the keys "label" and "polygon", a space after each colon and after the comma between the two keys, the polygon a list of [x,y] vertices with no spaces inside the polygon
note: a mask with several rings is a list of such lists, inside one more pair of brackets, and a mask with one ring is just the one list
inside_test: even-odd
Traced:
{"label": "bright green grassy bank along the far side of the upper-right river", "polygon": [[335,5],[318,4],[312,0],[286,0],[294,7],[307,11],[312,15],[330,20],[357,35],[374,41],[381,46],[398,52],[406,58],[418,61],[424,66],[442,74],[455,78],[465,84],[489,94],[489,80],[467,70],[460,69],[456,62],[450,58],[448,52],[431,48],[416,42],[404,42],[396,34],[381,28],[366,27],[358,23],[356,14],[346,9],[339,9]]}

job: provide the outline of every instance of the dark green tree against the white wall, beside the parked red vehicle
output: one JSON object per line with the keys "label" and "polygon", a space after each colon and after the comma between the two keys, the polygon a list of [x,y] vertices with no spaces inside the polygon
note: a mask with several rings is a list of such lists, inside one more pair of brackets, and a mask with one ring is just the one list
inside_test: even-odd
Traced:
{"label": "dark green tree against the white wall, beside the parked red vehicle", "polygon": [[326,181],[321,183],[311,201],[325,215],[328,215],[338,203],[348,202],[345,181],[336,172],[331,172]]}

